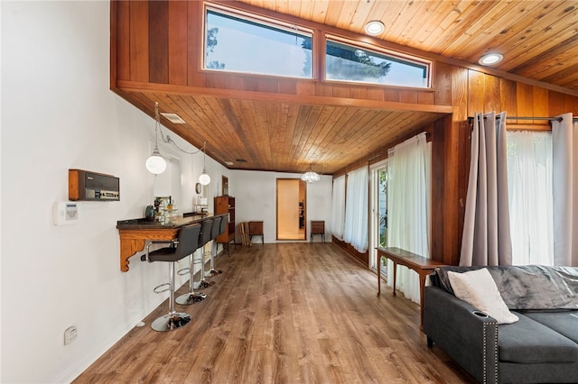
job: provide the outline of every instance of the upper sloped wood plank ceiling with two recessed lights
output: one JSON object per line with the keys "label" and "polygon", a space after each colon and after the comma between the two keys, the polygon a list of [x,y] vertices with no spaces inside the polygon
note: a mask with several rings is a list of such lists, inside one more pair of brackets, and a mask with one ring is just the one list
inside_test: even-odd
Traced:
{"label": "upper sloped wood plank ceiling with two recessed lights", "polygon": [[281,14],[477,63],[489,52],[494,69],[578,91],[578,1],[561,0],[238,0]]}

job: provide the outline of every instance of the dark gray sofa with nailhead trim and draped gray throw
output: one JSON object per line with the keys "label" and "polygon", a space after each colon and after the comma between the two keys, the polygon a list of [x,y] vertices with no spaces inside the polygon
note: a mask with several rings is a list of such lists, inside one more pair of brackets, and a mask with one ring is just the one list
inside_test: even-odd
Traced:
{"label": "dark gray sofa with nailhead trim and draped gray throw", "polygon": [[578,383],[578,268],[488,267],[519,321],[501,324],[453,294],[441,267],[424,288],[424,334],[482,383]]}

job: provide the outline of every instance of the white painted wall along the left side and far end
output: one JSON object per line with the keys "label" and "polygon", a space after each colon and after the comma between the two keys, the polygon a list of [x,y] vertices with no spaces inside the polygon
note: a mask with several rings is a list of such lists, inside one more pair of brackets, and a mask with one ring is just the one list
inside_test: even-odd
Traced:
{"label": "white painted wall along the left side and far end", "polygon": [[[143,263],[139,253],[120,271],[116,229],[117,220],[143,217],[153,202],[155,179],[144,160],[154,120],[109,90],[108,2],[0,7],[0,382],[68,382],[166,298],[152,292],[166,281],[166,265]],[[202,154],[159,149],[179,160],[177,204],[191,210]],[[119,177],[121,200],[83,202],[79,224],[55,226],[52,205],[68,200],[71,168]],[[264,220],[266,242],[275,242],[275,178],[301,175],[229,171],[210,158],[207,170],[209,210],[224,174],[238,198],[237,221]],[[331,177],[308,186],[307,199],[308,220],[330,223]],[[70,325],[79,335],[65,346]]]}

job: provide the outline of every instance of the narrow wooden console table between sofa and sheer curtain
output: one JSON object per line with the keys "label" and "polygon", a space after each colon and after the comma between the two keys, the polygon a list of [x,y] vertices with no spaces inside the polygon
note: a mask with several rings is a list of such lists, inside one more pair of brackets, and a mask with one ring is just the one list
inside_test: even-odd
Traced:
{"label": "narrow wooden console table between sofa and sheer curtain", "polygon": [[419,275],[419,302],[420,302],[420,326],[424,324],[424,285],[425,277],[443,264],[439,261],[424,258],[410,251],[396,247],[376,248],[378,250],[378,296],[381,295],[381,257],[385,257],[394,263],[394,296],[396,296],[397,264],[415,270]]}

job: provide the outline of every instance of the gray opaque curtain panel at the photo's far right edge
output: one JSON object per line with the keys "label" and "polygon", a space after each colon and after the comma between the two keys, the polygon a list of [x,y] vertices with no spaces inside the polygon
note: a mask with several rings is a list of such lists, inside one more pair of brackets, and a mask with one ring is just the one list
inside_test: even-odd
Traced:
{"label": "gray opaque curtain panel at the photo's far right edge", "polygon": [[554,262],[578,266],[578,123],[572,114],[552,122]]}

